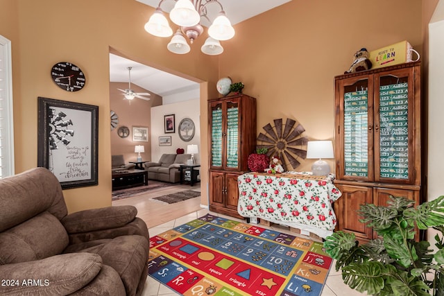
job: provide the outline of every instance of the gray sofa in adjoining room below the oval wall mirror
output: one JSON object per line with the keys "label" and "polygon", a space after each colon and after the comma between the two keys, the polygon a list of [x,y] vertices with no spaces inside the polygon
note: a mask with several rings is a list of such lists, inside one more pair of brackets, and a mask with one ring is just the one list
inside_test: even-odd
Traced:
{"label": "gray sofa in adjoining room below the oval wall mirror", "polygon": [[178,183],[180,182],[180,164],[187,164],[191,154],[164,154],[159,162],[146,162],[148,180]]}

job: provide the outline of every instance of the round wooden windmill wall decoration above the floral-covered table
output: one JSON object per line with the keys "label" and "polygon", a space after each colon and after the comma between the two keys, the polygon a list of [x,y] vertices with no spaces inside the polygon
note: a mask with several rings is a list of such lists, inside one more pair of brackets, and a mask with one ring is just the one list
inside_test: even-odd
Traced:
{"label": "round wooden windmill wall decoration above the floral-covered table", "polygon": [[267,155],[277,155],[284,166],[284,171],[297,168],[300,165],[298,159],[307,157],[307,137],[302,137],[305,128],[293,119],[287,119],[285,125],[282,119],[274,119],[274,126],[268,123],[264,126],[265,134],[259,133],[257,143],[259,148],[267,148]]}

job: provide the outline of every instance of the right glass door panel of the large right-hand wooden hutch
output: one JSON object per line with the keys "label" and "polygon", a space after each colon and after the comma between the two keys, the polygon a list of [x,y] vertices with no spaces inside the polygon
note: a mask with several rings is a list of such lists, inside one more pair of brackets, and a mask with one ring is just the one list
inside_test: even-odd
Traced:
{"label": "right glass door panel of the large right-hand wooden hutch", "polygon": [[380,177],[409,179],[408,77],[382,76],[379,81]]}

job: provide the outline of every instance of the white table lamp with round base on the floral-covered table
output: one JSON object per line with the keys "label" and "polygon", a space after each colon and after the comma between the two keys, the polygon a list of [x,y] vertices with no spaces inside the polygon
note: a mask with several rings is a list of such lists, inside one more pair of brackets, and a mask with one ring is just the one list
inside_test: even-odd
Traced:
{"label": "white table lamp with round base on the floral-covered table", "polygon": [[313,175],[328,175],[330,166],[322,158],[334,158],[332,141],[309,141],[307,143],[307,158],[318,158],[311,166]]}

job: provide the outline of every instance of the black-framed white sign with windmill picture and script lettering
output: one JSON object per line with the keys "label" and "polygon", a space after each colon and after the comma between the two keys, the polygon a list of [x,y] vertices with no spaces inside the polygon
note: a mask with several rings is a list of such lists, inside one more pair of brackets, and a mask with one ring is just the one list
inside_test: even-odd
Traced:
{"label": "black-framed white sign with windmill picture and script lettering", "polygon": [[62,189],[97,185],[99,107],[38,98],[37,166]]}

